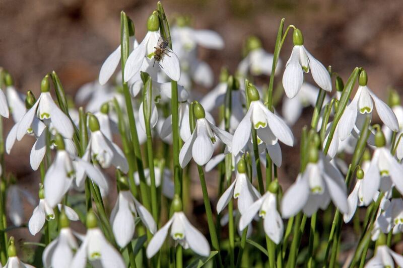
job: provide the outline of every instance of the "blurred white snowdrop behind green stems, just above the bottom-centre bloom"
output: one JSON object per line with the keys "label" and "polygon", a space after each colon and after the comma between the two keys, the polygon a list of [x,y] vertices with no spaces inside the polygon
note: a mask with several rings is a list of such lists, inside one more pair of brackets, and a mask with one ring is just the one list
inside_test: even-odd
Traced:
{"label": "blurred white snowdrop behind green stems, just above the bottom-centre bloom", "polygon": [[[175,189],[173,181],[171,180],[172,177],[171,170],[169,168],[164,168],[164,170],[161,171],[161,168],[158,166],[158,164],[155,163],[154,174],[155,174],[155,186],[160,187],[162,185],[162,194],[169,199],[173,199]],[[151,187],[151,177],[149,168],[144,169],[144,175],[146,177],[147,185]],[[135,184],[140,185],[139,172],[136,171],[133,174],[133,177],[135,178]]]}

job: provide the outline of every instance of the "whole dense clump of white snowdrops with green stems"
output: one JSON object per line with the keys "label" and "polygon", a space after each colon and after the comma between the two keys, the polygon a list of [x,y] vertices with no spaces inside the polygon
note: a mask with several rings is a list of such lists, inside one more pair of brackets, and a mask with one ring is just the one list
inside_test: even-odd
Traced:
{"label": "whole dense clump of white snowdrops with green stems", "polygon": [[[78,110],[56,72],[44,76],[34,96],[17,91],[1,69],[0,114],[15,122],[0,140],[3,265],[403,266],[393,251],[403,230],[403,109],[396,92],[385,104],[363,67],[344,82],[283,19],[273,54],[248,38],[236,73],[223,68],[219,83],[200,97],[192,87],[211,88],[214,77],[197,48],[223,49],[219,34],[191,28],[187,17],[170,28],[161,3],[137,25],[147,26],[142,40],[124,12],[120,19],[120,45],[99,80],[80,88],[76,104],[87,105]],[[290,35],[294,47],[284,65],[279,56]],[[270,76],[268,86],[254,84],[261,75]],[[283,92],[280,115],[275,96]],[[291,127],[309,105],[311,123],[297,140]],[[382,125],[371,125],[374,110]],[[4,153],[27,135],[35,140],[29,161],[39,169],[39,201],[4,166]],[[300,167],[283,190],[279,169],[298,159],[284,157],[287,146],[299,146]],[[211,176],[217,195],[208,192]],[[203,218],[192,214],[192,181],[203,193]],[[23,197],[35,207],[29,219]],[[75,221],[85,233],[71,226]],[[15,228],[32,237],[15,241],[8,234]]]}

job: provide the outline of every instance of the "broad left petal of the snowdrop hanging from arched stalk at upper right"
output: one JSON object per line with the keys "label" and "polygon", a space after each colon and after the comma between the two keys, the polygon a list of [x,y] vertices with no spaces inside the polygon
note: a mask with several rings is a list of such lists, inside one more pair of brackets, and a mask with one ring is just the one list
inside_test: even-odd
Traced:
{"label": "broad left petal of the snowdrop hanging from arched stalk at upper right", "polygon": [[297,95],[304,81],[299,53],[298,46],[294,46],[283,74],[283,87],[288,98],[294,98]]}

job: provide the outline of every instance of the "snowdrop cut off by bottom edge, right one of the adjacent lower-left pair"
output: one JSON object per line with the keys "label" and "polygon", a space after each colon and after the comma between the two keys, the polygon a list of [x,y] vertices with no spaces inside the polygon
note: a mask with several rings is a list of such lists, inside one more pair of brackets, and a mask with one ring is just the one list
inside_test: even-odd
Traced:
{"label": "snowdrop cut off by bottom edge, right one of the adjacent lower-left pair", "polygon": [[125,268],[126,264],[119,251],[108,243],[97,227],[97,218],[94,212],[88,212],[86,225],[87,234],[74,255],[70,267],[84,268],[88,259],[90,263],[96,263],[99,267]]}

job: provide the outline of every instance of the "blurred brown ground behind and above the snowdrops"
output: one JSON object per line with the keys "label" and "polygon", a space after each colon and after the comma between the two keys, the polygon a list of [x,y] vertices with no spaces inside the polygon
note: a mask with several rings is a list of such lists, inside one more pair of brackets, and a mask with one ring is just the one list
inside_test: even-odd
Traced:
{"label": "blurred brown ground behind and above the snowdrops", "polygon": [[[98,78],[104,59],[119,43],[120,16],[124,10],[136,26],[136,37],[146,33],[148,16],[156,1],[125,0],[0,0],[0,66],[13,75],[17,88],[39,94],[42,77],[55,70],[68,94],[74,96],[85,82]],[[355,66],[363,66],[369,86],[385,100],[387,86],[403,87],[403,14],[401,0],[379,1],[163,1],[168,18],[191,15],[194,27],[220,33],[223,51],[200,49],[200,58],[215,71],[222,65],[234,72],[241,60],[242,43],[248,35],[262,39],[274,50],[281,18],[304,34],[305,47],[325,66],[332,65],[344,79]],[[281,53],[285,62],[291,52],[291,36]],[[305,79],[311,81],[310,75]],[[281,76],[276,82],[281,81]],[[299,132],[303,125],[294,128]],[[6,123],[8,134],[12,120]],[[29,151],[33,141],[16,143],[6,156],[8,170],[19,180],[32,183]],[[293,149],[294,151],[294,149]],[[298,152],[298,148],[295,148]],[[294,169],[298,161],[282,169]],[[282,171],[284,172],[284,171]],[[37,178],[36,178],[37,179]],[[36,181],[35,181],[36,182]],[[36,189],[37,185],[34,184]],[[32,209],[28,209],[28,217]],[[27,219],[28,220],[28,219]]]}

